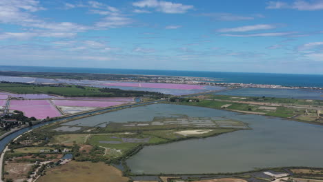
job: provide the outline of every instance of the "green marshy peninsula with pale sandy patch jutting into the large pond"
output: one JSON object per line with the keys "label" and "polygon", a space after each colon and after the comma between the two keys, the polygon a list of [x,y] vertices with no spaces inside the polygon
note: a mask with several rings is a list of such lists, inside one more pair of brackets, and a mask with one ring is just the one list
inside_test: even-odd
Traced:
{"label": "green marshy peninsula with pale sandy patch jutting into the large pond", "polygon": [[[21,135],[16,141],[9,145],[10,157],[21,154],[60,154],[63,150],[69,150],[73,154],[75,161],[104,161],[106,163],[119,163],[124,161],[141,150],[145,145],[157,145],[170,143],[185,139],[203,138],[215,136],[226,132],[234,132],[242,128],[234,128],[235,125],[245,126],[240,121],[229,119],[210,120],[201,118],[195,121],[185,116],[175,117],[175,119],[188,119],[189,122],[213,122],[213,126],[203,128],[200,125],[163,124],[150,125],[152,122],[138,122],[138,127],[128,127],[133,125],[128,123],[111,123],[114,125],[106,128],[92,128],[88,132],[55,132],[52,128],[57,128],[63,122],[51,123],[32,132]],[[154,122],[173,120],[174,117],[157,117]],[[176,121],[177,122],[177,121]],[[218,122],[218,123],[217,123]],[[230,128],[221,128],[221,125],[231,125]],[[177,127],[175,127],[177,126]],[[118,130],[119,128],[119,130]],[[245,129],[248,129],[246,127]]]}

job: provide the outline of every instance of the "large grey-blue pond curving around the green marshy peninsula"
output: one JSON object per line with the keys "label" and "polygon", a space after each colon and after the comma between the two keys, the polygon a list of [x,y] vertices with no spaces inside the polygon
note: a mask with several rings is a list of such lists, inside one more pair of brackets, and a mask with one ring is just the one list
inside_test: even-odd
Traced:
{"label": "large grey-blue pond curving around the green marshy peninsula", "polygon": [[[248,123],[253,130],[147,146],[128,159],[127,163],[132,172],[192,174],[242,172],[279,166],[323,167],[321,125],[167,104],[146,105],[102,114],[101,122],[151,121],[154,116],[167,117],[172,114],[186,114],[190,117],[226,117]],[[79,121],[89,124],[93,118]],[[79,121],[72,121],[70,125]]]}

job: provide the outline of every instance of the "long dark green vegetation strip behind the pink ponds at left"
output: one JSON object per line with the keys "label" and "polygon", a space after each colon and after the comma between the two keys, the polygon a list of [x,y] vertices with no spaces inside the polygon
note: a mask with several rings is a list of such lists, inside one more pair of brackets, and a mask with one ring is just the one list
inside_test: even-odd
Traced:
{"label": "long dark green vegetation strip behind the pink ponds at left", "polygon": [[80,85],[37,85],[32,83],[1,82],[0,90],[17,94],[57,94],[65,97],[166,97],[157,92],[95,88]]}

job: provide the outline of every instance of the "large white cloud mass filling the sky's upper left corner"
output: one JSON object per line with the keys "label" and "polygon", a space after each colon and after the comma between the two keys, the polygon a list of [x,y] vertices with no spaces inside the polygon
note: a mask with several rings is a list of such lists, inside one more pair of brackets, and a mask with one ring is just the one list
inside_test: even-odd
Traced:
{"label": "large white cloud mass filling the sky's upper left corner", "polygon": [[0,23],[29,28],[26,32],[4,32],[1,39],[30,39],[31,37],[72,37],[76,32],[88,30],[86,26],[70,22],[48,22],[32,12],[45,10],[35,0],[0,1]]}

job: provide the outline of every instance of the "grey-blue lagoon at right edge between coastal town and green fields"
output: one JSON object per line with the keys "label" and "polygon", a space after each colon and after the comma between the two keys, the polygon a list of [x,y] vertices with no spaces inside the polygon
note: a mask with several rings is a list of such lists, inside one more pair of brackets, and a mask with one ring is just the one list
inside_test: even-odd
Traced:
{"label": "grey-blue lagoon at right edge between coastal town and green fields", "polygon": [[309,89],[273,89],[273,88],[240,88],[227,90],[216,94],[247,96],[247,97],[279,97],[293,99],[316,99],[323,100],[323,90]]}

